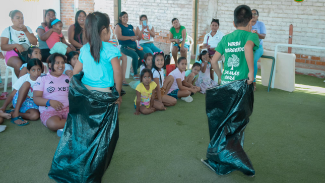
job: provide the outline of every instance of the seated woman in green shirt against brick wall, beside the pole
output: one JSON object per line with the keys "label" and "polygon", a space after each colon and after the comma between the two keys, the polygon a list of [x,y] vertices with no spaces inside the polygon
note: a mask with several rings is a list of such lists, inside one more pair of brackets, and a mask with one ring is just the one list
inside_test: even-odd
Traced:
{"label": "seated woman in green shirt against brick wall, beside the pole", "polygon": [[173,55],[174,60],[177,60],[178,51],[180,52],[181,56],[186,58],[186,53],[189,49],[186,28],[179,24],[177,18],[173,18],[171,23],[173,26],[169,30],[169,41],[174,42],[173,48],[171,49],[171,54]]}

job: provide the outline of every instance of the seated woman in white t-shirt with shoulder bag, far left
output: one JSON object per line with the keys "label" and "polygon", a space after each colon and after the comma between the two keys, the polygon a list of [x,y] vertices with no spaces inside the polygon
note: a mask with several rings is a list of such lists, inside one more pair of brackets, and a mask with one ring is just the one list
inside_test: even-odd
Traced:
{"label": "seated woman in white t-shirt with shoulder bag, far left", "polygon": [[20,67],[24,64],[17,52],[26,51],[22,44],[27,44],[30,47],[32,44],[37,44],[37,39],[33,34],[32,29],[24,25],[23,13],[19,10],[14,10],[9,13],[13,25],[5,28],[1,34],[1,49],[6,52],[5,61],[8,66],[15,69],[15,74],[18,77]]}

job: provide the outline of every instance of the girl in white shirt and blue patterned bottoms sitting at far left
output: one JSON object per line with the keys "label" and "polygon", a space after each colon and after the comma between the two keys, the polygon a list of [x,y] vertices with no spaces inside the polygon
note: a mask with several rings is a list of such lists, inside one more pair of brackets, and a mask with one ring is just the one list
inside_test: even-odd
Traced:
{"label": "girl in white shirt and blue patterned bottoms sitting at far left", "polygon": [[[15,109],[9,110],[7,113],[11,115],[11,123],[18,126],[29,124],[24,119],[37,120],[39,118],[38,106],[33,101],[33,87],[42,73],[41,60],[37,58],[30,59],[27,63],[27,72],[28,74],[20,77],[14,84],[13,91],[0,109],[5,111],[10,102],[13,102]],[[0,120],[3,120],[3,117],[1,116]]]}

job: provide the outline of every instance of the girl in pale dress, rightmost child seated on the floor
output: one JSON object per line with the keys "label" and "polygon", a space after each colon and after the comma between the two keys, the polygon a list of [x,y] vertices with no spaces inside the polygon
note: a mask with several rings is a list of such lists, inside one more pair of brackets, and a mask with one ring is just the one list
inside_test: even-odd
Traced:
{"label": "girl in pale dress, rightmost child seated on the floor", "polygon": [[207,50],[201,51],[199,62],[201,63],[201,71],[195,85],[201,88],[202,94],[205,94],[207,88],[218,86],[218,82],[211,78],[211,57]]}

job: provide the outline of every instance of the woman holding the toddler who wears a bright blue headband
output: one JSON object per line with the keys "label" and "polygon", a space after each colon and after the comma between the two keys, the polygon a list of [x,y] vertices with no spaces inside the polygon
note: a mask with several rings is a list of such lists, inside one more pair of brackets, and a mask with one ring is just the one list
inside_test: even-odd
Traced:
{"label": "woman holding the toddler who wears a bright blue headband", "polygon": [[49,27],[50,21],[56,19],[55,17],[56,13],[53,9],[48,9],[45,12],[45,22],[41,23],[40,26],[37,27],[36,33],[38,36],[38,47],[41,49],[42,54],[42,62],[46,63],[47,58],[51,55],[50,49],[48,48],[46,44],[46,40],[50,37],[50,35],[53,33],[53,31],[56,31],[56,29],[50,29],[47,32],[45,31],[45,27]]}

